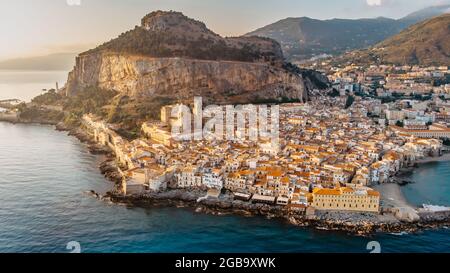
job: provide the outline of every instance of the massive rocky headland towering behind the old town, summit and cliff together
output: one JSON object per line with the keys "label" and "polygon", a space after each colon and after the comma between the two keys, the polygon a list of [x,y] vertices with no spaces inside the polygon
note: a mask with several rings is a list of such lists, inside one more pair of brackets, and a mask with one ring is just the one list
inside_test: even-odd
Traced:
{"label": "massive rocky headland towering behind the old town, summit and cliff together", "polygon": [[272,39],[223,38],[182,13],[156,11],[133,30],[80,54],[65,91],[75,96],[89,87],[115,90],[138,103],[194,96],[214,103],[305,100],[317,81],[297,72]]}

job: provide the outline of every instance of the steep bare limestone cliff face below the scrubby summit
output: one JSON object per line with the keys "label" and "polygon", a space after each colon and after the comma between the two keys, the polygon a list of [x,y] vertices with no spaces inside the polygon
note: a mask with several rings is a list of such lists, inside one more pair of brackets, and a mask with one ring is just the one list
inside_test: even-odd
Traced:
{"label": "steep bare limestone cliff face below the scrubby summit", "polygon": [[82,55],[69,74],[67,94],[97,86],[140,98],[211,97],[242,99],[306,99],[303,78],[268,63],[154,58],[116,53]]}

